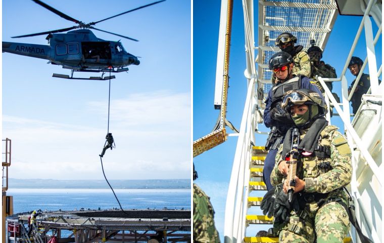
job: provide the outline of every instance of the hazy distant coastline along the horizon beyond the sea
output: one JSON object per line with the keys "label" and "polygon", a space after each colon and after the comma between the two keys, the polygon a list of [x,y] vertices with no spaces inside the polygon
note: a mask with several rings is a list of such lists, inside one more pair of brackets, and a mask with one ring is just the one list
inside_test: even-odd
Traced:
{"label": "hazy distant coastline along the horizon beyond the sea", "polygon": [[[113,189],[190,189],[189,179],[171,180],[108,180]],[[106,189],[105,180],[55,180],[55,179],[14,179],[8,180],[9,188],[46,189]]]}

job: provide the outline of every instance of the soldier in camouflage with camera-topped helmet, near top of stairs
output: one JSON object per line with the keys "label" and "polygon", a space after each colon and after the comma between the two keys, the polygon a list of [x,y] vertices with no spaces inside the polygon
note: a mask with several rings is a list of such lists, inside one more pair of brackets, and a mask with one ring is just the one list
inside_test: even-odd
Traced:
{"label": "soldier in camouflage with camera-topped helmet, near top of stairs", "polygon": [[[324,89],[321,86],[320,82],[316,80],[316,75],[319,75],[321,77],[329,77],[329,78],[336,78],[336,70],[329,64],[322,64],[320,59],[323,57],[323,51],[317,47],[317,46],[311,46],[308,48],[308,56],[311,59],[311,78],[316,81],[316,85],[323,93],[324,96]],[[332,92],[332,82],[325,82],[328,89]]]}

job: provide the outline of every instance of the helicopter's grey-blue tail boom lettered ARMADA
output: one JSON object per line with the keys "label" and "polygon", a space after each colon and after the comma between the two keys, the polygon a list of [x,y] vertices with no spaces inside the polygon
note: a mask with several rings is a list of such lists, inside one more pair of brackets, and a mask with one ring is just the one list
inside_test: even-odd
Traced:
{"label": "helicopter's grey-blue tail boom lettered ARMADA", "polygon": [[51,47],[46,45],[3,42],[3,52],[49,60]]}

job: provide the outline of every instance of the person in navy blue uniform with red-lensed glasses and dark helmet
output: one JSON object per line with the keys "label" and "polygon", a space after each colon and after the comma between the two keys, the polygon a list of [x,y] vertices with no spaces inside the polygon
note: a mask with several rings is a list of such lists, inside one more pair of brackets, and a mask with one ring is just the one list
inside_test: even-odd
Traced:
{"label": "person in navy blue uniform with red-lensed glasses and dark helmet", "polygon": [[266,149],[269,151],[263,169],[263,181],[268,190],[272,188],[269,178],[275,164],[277,148],[282,142],[286,131],[294,125],[290,114],[281,109],[283,94],[290,90],[310,89],[322,97],[320,90],[312,79],[300,74],[294,74],[294,60],[290,54],[286,52],[274,54],[269,60],[269,69],[275,73],[277,83],[269,90],[263,115],[265,126],[274,131],[270,133],[267,140]]}

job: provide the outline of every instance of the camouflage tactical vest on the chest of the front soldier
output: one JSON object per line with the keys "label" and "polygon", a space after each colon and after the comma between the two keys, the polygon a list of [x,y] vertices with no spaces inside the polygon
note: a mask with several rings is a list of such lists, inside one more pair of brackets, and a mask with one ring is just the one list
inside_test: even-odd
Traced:
{"label": "camouflage tactical vest on the chest of the front soldier", "polygon": [[[332,169],[330,166],[330,143],[331,134],[336,130],[338,128],[335,126],[327,126],[320,132],[320,138],[313,154],[303,156],[303,166],[301,167],[303,171],[299,172],[301,178],[316,178]],[[301,135],[300,139],[303,139],[304,136],[305,134]]]}

